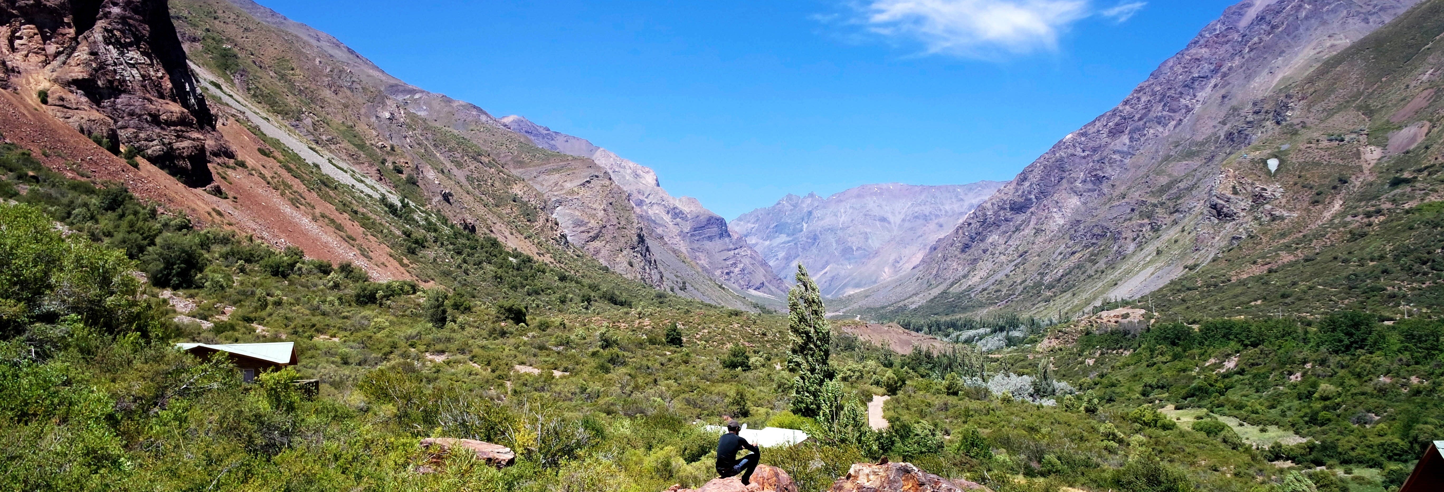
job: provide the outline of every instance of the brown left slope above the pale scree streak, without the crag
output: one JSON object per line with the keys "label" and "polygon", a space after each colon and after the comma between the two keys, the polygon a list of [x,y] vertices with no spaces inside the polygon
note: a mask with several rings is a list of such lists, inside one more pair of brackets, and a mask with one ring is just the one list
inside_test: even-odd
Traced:
{"label": "brown left slope above the pale scree streak, without the crag", "polygon": [[407,85],[335,38],[253,1],[175,6],[217,97],[253,101],[253,123],[277,117],[282,133],[349,167],[345,175],[381,183],[399,206],[425,203],[554,261],[562,251],[585,252],[657,289],[754,306],[640,221],[627,190],[596,162],[537,147],[485,110]]}

